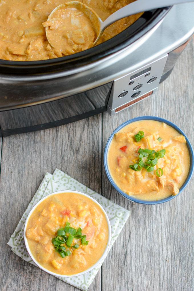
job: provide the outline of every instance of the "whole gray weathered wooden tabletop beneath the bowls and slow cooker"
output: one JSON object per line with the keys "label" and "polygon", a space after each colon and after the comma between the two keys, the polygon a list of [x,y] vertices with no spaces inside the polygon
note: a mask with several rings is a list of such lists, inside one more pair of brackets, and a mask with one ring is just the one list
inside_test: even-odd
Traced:
{"label": "whole gray weathered wooden tabletop beneath the bowls and slow cooker", "polygon": [[1,143],[1,290],[78,290],[16,256],[6,244],[48,171],[59,168],[131,211],[89,290],[194,290],[194,179],[161,205],[129,202],[111,187],[103,166],[106,141],[129,118],[156,115],[176,123],[194,143],[194,41],[157,93],[110,117],[107,112]]}

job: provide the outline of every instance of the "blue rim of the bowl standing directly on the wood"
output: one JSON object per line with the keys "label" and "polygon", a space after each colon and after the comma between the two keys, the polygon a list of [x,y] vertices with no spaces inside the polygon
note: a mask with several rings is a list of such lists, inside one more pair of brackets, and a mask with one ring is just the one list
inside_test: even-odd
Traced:
{"label": "blue rim of the bowl standing directly on the wood", "polygon": [[[164,199],[161,199],[161,200],[141,200],[141,199],[136,199],[134,198],[133,196],[129,196],[127,195],[125,192],[123,192],[114,182],[114,180],[112,179],[111,177],[111,174],[109,172],[109,169],[108,169],[108,149],[109,149],[109,146],[111,144],[111,141],[114,137],[114,134],[116,132],[119,132],[120,129],[122,129],[123,127],[125,127],[126,125],[130,124],[130,123],[133,123],[135,121],[139,121],[139,120],[156,120],[156,121],[159,121],[159,122],[164,122],[166,123],[167,125],[170,125],[171,127],[173,127],[174,129],[177,130],[177,132],[179,132],[180,134],[182,134],[183,136],[185,136],[186,138],[186,142],[187,142],[187,147],[188,147],[188,151],[189,151],[189,156],[190,156],[190,167],[189,167],[189,172],[188,172],[188,176],[185,180],[185,182],[183,183],[183,185],[181,186],[181,188],[179,189],[179,193],[175,196],[169,196],[167,198],[164,198]],[[194,168],[194,153],[193,153],[193,148],[191,146],[191,143],[190,141],[188,140],[186,134],[184,134],[184,132],[177,126],[175,125],[174,123],[172,123],[171,121],[167,120],[167,119],[164,119],[164,118],[161,118],[161,117],[157,117],[157,116],[139,116],[139,117],[135,117],[135,118],[131,118],[127,121],[125,121],[124,123],[122,123],[121,125],[119,125],[114,131],[113,133],[111,134],[111,136],[109,137],[107,143],[106,143],[106,147],[105,147],[105,150],[104,150],[104,168],[105,168],[105,171],[106,171],[106,175],[108,177],[108,180],[111,182],[112,186],[125,198],[127,198],[128,200],[131,200],[133,202],[136,202],[136,203],[141,203],[141,204],[160,204],[160,203],[164,203],[164,202],[167,202],[167,201],[170,201],[172,199],[174,199],[175,197],[177,197],[179,194],[181,194],[181,192],[185,189],[185,187],[187,186],[188,182],[191,180],[191,176],[193,175],[193,168]]]}

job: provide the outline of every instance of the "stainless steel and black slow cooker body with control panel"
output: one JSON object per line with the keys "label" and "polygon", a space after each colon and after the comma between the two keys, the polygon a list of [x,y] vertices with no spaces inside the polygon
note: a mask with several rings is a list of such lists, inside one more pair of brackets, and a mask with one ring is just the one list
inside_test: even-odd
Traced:
{"label": "stainless steel and black slow cooker body with control panel", "polygon": [[155,9],[114,38],[74,55],[0,60],[0,136],[106,110],[119,114],[151,96],[193,35],[193,13],[194,3]]}

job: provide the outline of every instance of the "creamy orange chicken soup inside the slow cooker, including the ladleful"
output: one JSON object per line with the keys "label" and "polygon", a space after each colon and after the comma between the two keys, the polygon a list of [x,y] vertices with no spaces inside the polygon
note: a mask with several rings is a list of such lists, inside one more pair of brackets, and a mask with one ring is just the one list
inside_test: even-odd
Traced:
{"label": "creamy orange chicken soup inside the slow cooker, including the ladleful", "polygon": [[[104,21],[134,0],[83,0]],[[91,21],[76,7],[61,7],[65,0],[0,0],[0,58],[10,61],[47,60],[83,51],[95,39]],[[100,44],[117,35],[142,13],[120,19],[109,26]],[[45,33],[47,28],[47,36]]]}

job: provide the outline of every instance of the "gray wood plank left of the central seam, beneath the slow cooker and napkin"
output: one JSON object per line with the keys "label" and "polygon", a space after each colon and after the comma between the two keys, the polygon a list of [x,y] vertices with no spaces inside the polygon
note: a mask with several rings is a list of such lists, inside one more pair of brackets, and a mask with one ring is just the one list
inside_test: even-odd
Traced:
{"label": "gray wood plank left of the central seam, beneath the slow cooker and napkin", "polygon": [[[78,290],[25,262],[6,243],[47,171],[59,168],[101,193],[101,125],[99,114],[57,128],[3,138],[1,290]],[[101,270],[91,289],[101,290]]]}

